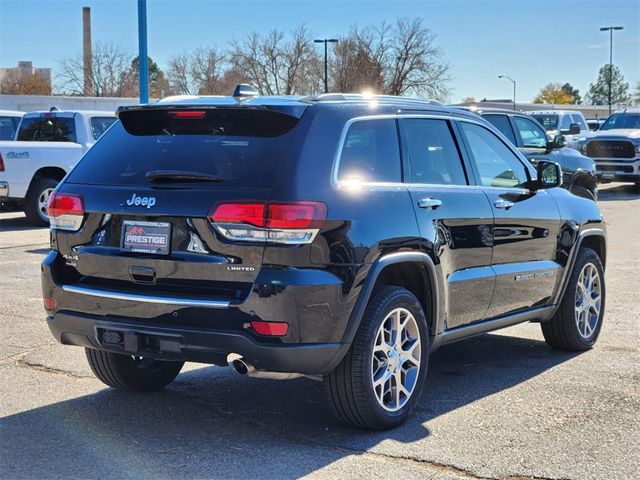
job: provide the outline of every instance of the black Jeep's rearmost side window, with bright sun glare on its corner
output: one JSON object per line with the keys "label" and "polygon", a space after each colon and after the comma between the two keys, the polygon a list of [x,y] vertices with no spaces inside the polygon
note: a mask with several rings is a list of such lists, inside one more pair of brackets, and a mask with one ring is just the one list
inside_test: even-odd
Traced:
{"label": "black Jeep's rearmost side window, with bright sun glare on its corner", "polygon": [[339,180],[400,182],[400,146],[394,119],[360,120],[347,131],[340,162]]}

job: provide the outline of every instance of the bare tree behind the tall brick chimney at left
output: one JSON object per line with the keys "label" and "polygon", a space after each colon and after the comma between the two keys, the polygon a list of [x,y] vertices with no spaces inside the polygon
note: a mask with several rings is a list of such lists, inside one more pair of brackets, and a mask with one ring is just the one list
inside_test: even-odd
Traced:
{"label": "bare tree behind the tall brick chimney at left", "polygon": [[[91,47],[91,95],[118,95],[133,55],[111,43],[95,43]],[[84,95],[84,61],[82,54],[60,62],[60,88],[68,93]]]}

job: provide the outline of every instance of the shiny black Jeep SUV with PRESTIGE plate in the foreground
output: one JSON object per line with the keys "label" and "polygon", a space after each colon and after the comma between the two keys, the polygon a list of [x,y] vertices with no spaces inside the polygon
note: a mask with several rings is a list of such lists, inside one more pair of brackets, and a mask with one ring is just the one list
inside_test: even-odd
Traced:
{"label": "shiny black Jeep SUV with PRESTIGE plate in the foreground", "polygon": [[183,362],[324,381],[389,428],[429,354],[520,322],[553,347],[602,327],[605,226],[481,117],[398,97],[172,98],[120,121],[49,202],[55,338],[109,386]]}

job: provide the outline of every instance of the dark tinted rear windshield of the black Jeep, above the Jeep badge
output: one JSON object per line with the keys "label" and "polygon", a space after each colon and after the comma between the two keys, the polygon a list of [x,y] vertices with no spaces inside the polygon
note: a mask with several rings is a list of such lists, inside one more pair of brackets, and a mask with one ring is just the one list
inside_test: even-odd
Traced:
{"label": "dark tinted rear windshield of the black Jeep, above the Jeep badge", "polygon": [[[216,109],[175,119],[166,110],[132,111],[110,128],[69,175],[69,183],[149,185],[151,171],[217,177],[224,187],[273,182],[298,119],[268,110]],[[184,180],[164,180],[180,183]],[[201,183],[198,183],[201,186]],[[213,184],[211,184],[213,185]]]}

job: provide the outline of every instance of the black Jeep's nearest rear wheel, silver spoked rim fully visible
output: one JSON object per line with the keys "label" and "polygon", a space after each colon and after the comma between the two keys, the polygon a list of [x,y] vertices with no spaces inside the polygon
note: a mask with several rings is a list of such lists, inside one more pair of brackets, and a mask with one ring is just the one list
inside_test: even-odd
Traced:
{"label": "black Jeep's nearest rear wheel, silver spoked rim fully visible", "polygon": [[351,348],[327,377],[329,403],[348,425],[384,430],[403,423],[420,400],[429,329],[418,299],[384,287],[369,301]]}

